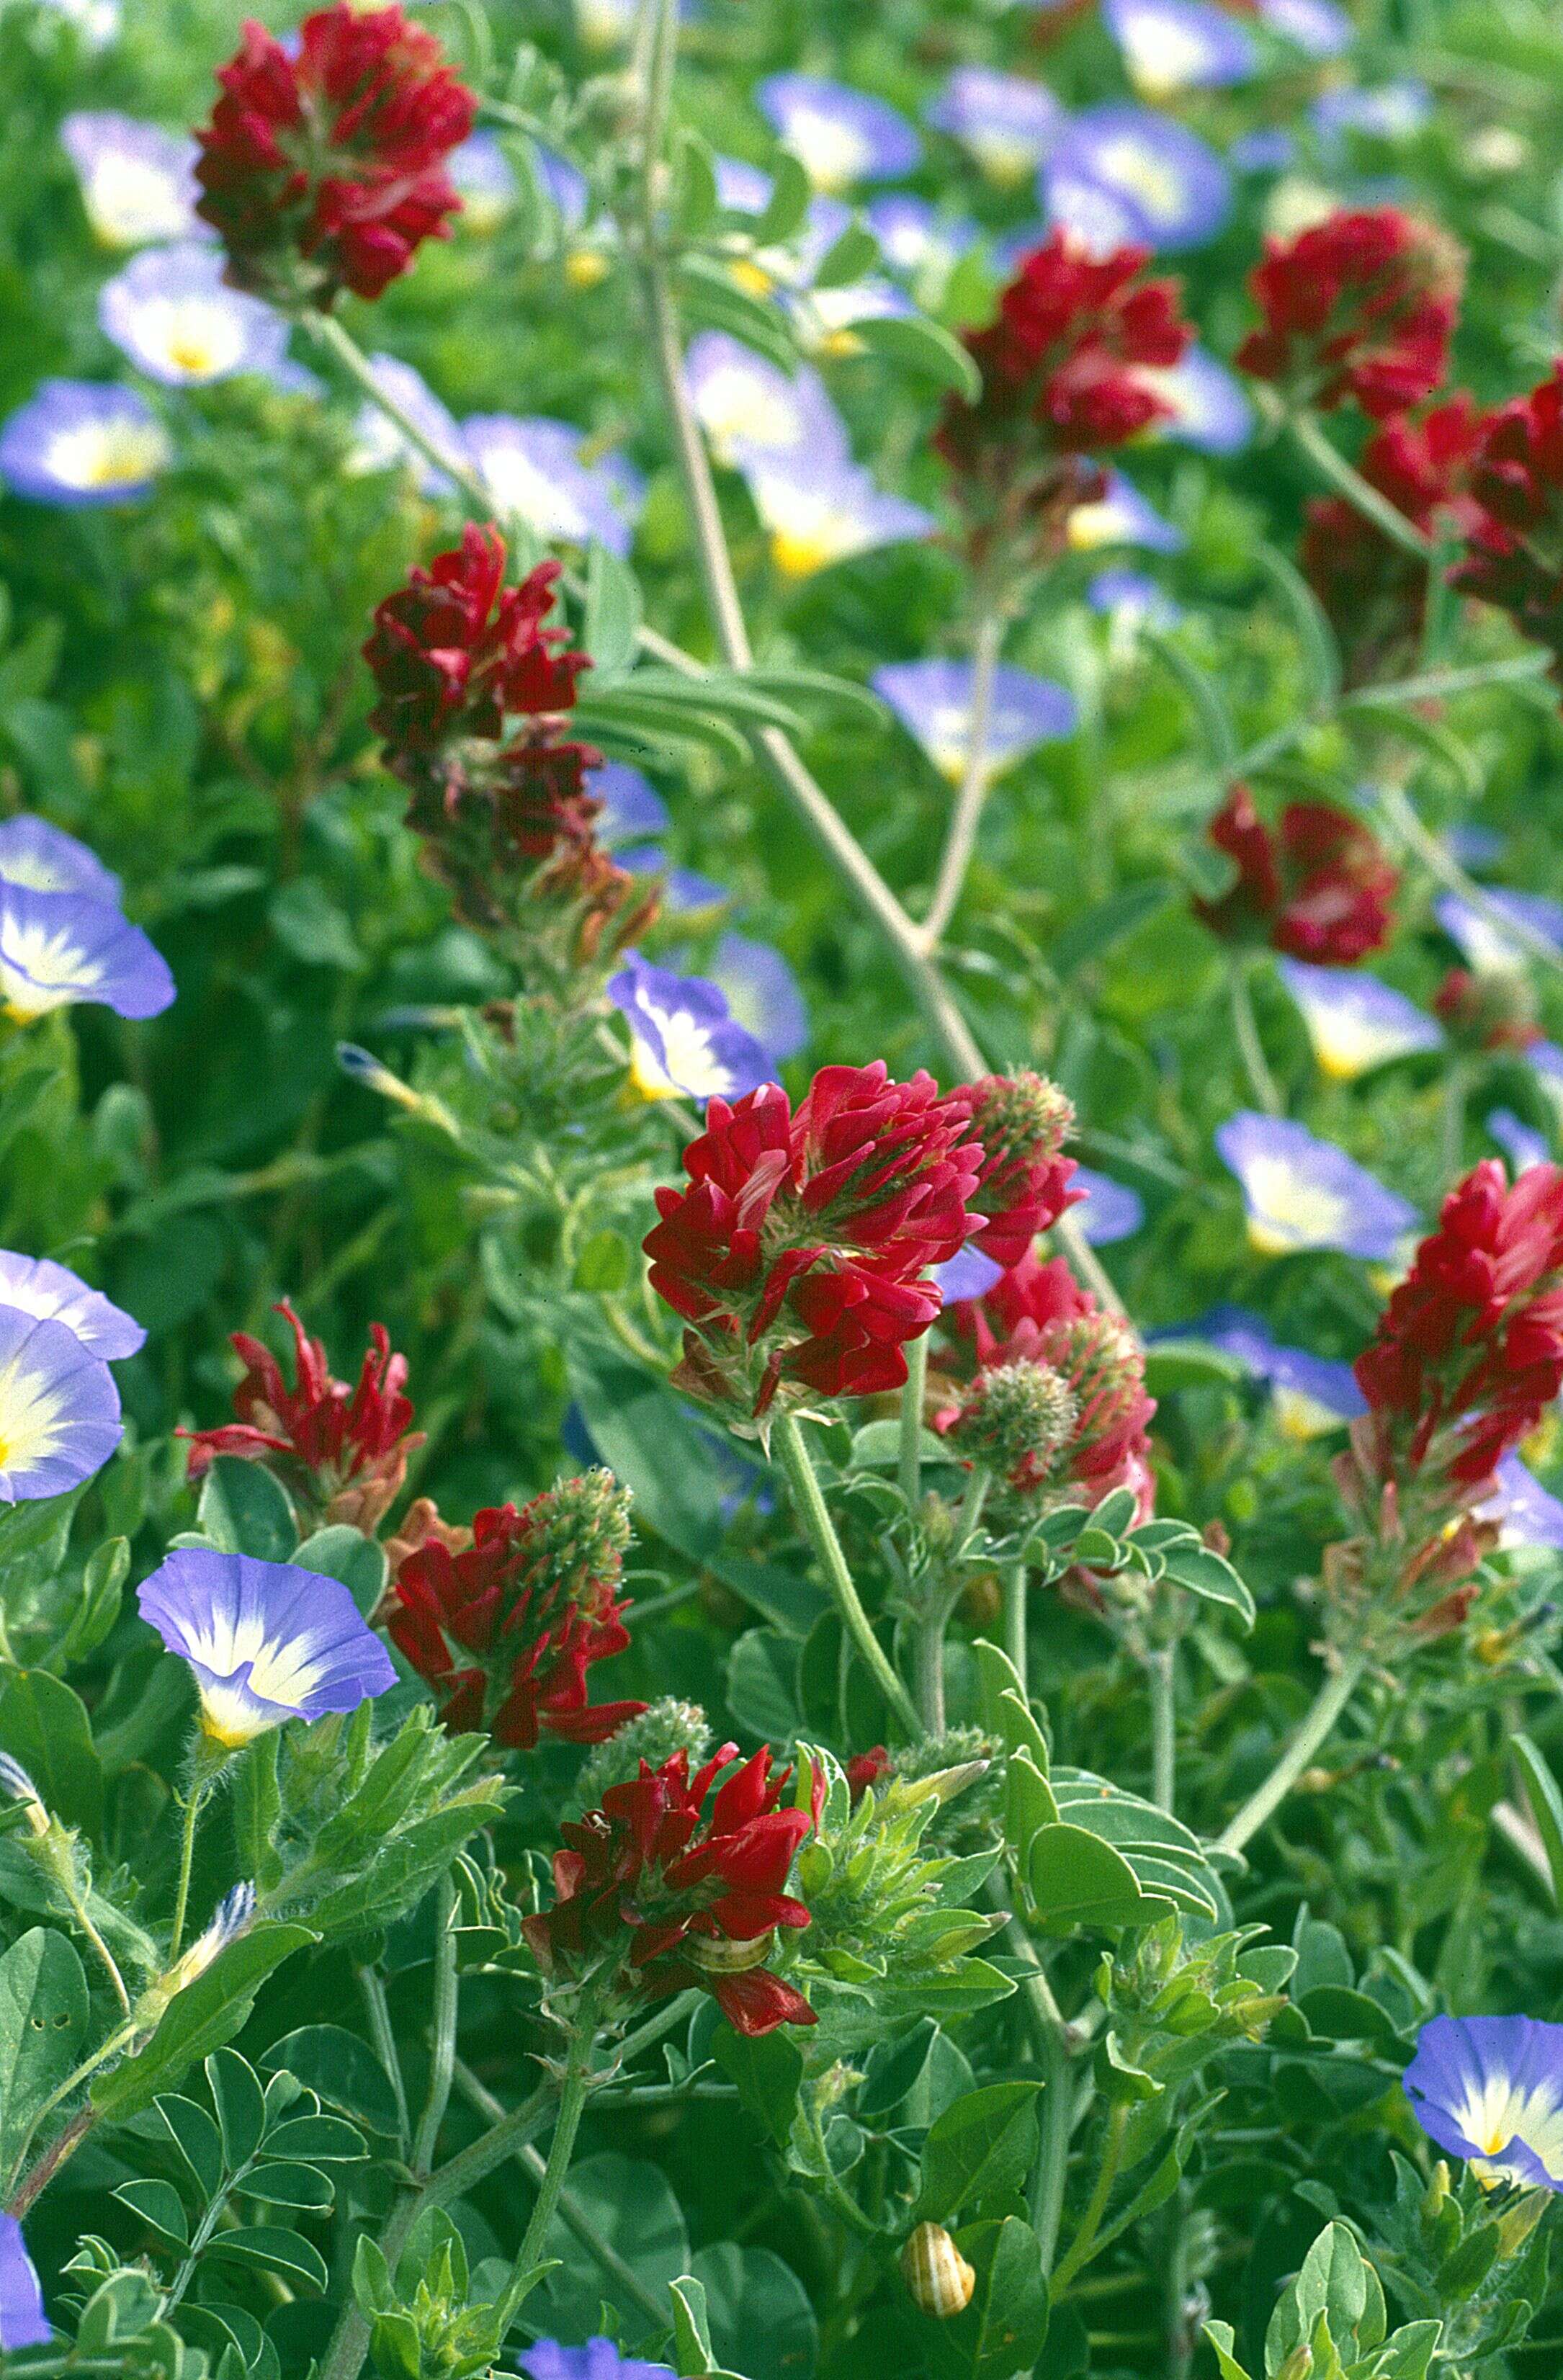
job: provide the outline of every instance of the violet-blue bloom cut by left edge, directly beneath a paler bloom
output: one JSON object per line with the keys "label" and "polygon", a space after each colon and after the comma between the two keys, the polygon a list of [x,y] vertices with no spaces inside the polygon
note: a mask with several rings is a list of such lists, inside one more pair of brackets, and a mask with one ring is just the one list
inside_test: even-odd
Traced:
{"label": "violet-blue bloom cut by left edge, directly beneath a paler bloom", "polygon": [[102,1357],[67,1323],[0,1304],[0,1504],[79,1488],[121,1435],[119,1390]]}

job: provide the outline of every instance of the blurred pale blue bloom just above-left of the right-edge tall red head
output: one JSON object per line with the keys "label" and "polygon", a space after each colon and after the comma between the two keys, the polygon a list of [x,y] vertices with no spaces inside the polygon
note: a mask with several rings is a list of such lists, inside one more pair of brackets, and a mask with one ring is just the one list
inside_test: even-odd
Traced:
{"label": "blurred pale blue bloom just above-left of the right-edge tall red head", "polygon": [[1263,1257],[1337,1247],[1389,1264],[1418,1223],[1416,1207],[1289,1116],[1239,1109],[1216,1128],[1216,1150],[1237,1176],[1249,1245]]}

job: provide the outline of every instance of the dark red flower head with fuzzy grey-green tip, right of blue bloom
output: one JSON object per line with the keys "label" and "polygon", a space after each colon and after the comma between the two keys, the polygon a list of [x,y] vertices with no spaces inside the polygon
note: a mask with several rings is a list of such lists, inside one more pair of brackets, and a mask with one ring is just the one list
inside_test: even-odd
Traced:
{"label": "dark red flower head with fuzzy grey-green tip, right of blue bloom", "polygon": [[600,1745],[642,1702],[588,1704],[585,1673],[630,1642],[619,1602],[628,1495],[588,1471],[521,1511],[481,1511],[471,1545],[438,1535],[407,1554],[388,1628],[450,1728],[488,1728],[531,1752],[538,1735]]}

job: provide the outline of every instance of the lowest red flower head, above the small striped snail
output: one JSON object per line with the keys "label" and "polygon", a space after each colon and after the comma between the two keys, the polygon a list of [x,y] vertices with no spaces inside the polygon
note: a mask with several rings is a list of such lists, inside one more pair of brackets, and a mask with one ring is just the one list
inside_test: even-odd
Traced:
{"label": "lowest red flower head, above the small striped snail", "polygon": [[554,1906],[526,1918],[547,1975],[592,1975],[649,1999],[695,1985],[735,2033],[816,2021],[766,1966],[776,1930],[809,1923],[785,1887],[811,1821],[778,1809],[792,1771],[771,1775],[768,1749],[718,1787],[707,1814],[735,1756],[737,1745],[723,1745],[695,1775],[688,1752],[661,1768],[642,1761],[630,1785],[604,1792],[602,1809],[559,1828]]}

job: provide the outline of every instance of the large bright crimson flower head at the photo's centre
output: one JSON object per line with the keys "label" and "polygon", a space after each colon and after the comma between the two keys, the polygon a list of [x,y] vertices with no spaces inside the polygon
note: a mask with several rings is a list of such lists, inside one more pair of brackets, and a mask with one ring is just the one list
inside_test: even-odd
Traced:
{"label": "large bright crimson flower head at the photo's centre", "polygon": [[973,1228],[983,1150],[928,1073],[826,1066],[797,1114],[776,1083],[711,1100],[683,1152],[688,1190],[659,1190],[652,1288],[690,1328],[680,1383],[764,1414],[795,1395],[899,1388],[902,1347],[940,1311],[925,1278]]}

